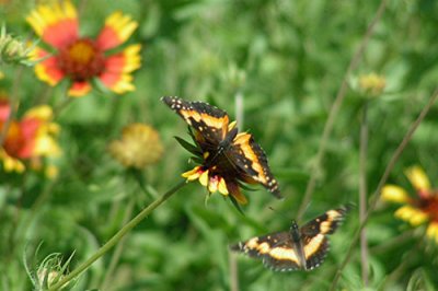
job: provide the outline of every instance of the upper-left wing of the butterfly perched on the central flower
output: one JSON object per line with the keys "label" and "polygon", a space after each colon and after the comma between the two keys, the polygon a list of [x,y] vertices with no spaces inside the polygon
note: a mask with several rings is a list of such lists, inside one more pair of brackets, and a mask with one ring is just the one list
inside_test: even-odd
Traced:
{"label": "upper-left wing of the butterfly perched on the central flower", "polygon": [[204,150],[216,149],[228,133],[229,117],[224,110],[204,102],[188,102],[178,97],[161,98],[195,129],[195,139]]}

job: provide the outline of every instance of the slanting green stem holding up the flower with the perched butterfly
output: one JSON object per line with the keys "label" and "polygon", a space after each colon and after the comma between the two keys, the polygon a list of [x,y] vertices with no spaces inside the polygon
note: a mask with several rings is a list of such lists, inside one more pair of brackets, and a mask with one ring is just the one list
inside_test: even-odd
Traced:
{"label": "slanting green stem holding up the flower with the perched butterfly", "polygon": [[67,275],[62,280],[59,280],[56,284],[50,287],[49,290],[58,290],[65,283],[69,282],[77,276],[79,276],[82,271],[87,270],[94,261],[101,258],[104,254],[106,254],[114,245],[116,245],[122,237],[124,237],[130,230],[132,230],[138,223],[140,223],[146,217],[148,217],[157,207],[168,200],[173,194],[180,190],[182,187],[186,185],[186,182],[183,181],[177,184],[175,187],[163,194],[160,198],[150,203],[147,208],[145,208],[140,213],[137,214],[134,219],[131,219],[125,226],[122,228],[113,237],[110,238],[106,244],[104,244],[101,248],[97,249],[89,259],[82,263],[78,268]]}

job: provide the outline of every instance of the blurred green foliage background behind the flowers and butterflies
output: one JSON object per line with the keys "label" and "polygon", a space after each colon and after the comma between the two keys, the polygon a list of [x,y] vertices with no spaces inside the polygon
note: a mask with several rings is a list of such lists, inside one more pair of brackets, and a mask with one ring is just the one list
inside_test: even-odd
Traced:
{"label": "blurred green foliage background behind the flowers and butterflies", "polygon": [[[9,32],[35,39],[25,16],[39,1],[1,1],[0,19]],[[35,269],[44,257],[61,253],[69,267],[93,254],[122,226],[130,200],[134,213],[152,201],[107,153],[122,128],[152,125],[165,148],[162,160],[143,172],[162,194],[193,167],[189,153],[173,139],[187,138],[186,125],[160,102],[163,95],[207,101],[235,118],[235,96],[243,96],[241,130],[264,148],[286,199],[263,187],[245,191],[250,203],[240,214],[216,194],[205,205],[206,189],[192,183],[158,208],[127,235],[107,290],[230,290],[228,245],[268,232],[288,230],[296,218],[331,105],[348,63],[379,1],[74,1],[82,35],[95,36],[115,10],[132,15],[139,27],[128,40],[142,45],[142,66],[134,73],[136,91],[118,96],[93,90],[73,100],[56,117],[64,154],[59,177],[0,175],[0,289],[30,290],[23,256]],[[327,209],[358,203],[359,128],[368,102],[368,189],[371,194],[394,149],[431,95],[438,80],[438,2],[388,1],[360,66],[348,79],[348,92],[327,151],[318,168],[318,184],[306,221]],[[0,89],[12,91],[22,74],[19,115],[35,104],[64,102],[65,86],[47,89],[32,68],[1,65]],[[358,85],[361,75],[385,79],[384,92],[369,97]],[[422,165],[431,183],[438,177],[438,107],[435,105],[403,152],[390,182],[412,187],[403,170]],[[38,197],[49,199],[32,209]],[[270,210],[269,207],[275,210]],[[424,229],[393,218],[395,206],[379,205],[367,225],[370,282],[368,290],[434,290],[436,247]],[[11,238],[21,223],[30,225],[20,244]],[[240,290],[325,290],[350,238],[358,211],[331,237],[326,261],[311,272],[273,272],[261,261],[237,258]],[[36,258],[37,245],[42,243]],[[97,289],[111,253],[77,281],[73,290]],[[235,258],[233,258],[235,259]],[[7,289],[5,289],[7,288]],[[342,277],[339,289],[361,290],[359,248]]]}

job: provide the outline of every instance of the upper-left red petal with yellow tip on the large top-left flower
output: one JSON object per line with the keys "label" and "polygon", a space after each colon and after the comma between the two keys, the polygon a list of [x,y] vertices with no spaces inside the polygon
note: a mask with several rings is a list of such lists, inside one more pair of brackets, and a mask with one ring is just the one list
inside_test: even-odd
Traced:
{"label": "upper-left red petal with yellow tip on the large top-left flower", "polygon": [[78,39],[78,15],[70,1],[38,5],[26,21],[44,42],[56,48]]}

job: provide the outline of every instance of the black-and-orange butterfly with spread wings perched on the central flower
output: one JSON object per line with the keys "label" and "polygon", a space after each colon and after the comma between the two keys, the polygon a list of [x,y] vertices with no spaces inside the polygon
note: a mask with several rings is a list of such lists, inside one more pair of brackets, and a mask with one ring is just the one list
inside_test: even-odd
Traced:
{"label": "black-and-orange butterfly with spread wings perched on the central flower", "polygon": [[274,178],[267,158],[253,136],[239,132],[228,114],[204,102],[188,102],[165,96],[162,101],[176,112],[194,131],[205,168],[226,178],[231,191],[238,190],[233,179],[260,183],[277,198],[281,198],[278,183]]}

